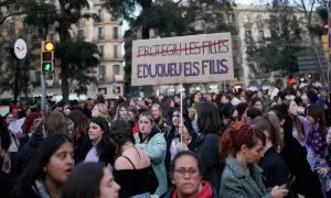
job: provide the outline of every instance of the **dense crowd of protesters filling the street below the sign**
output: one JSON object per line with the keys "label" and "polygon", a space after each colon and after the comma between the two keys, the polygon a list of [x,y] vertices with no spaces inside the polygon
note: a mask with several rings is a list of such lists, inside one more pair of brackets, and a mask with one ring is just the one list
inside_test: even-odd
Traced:
{"label": "dense crowd of protesters filling the street below the sign", "polygon": [[271,86],[12,106],[0,121],[0,195],[331,197],[329,102],[321,89]]}

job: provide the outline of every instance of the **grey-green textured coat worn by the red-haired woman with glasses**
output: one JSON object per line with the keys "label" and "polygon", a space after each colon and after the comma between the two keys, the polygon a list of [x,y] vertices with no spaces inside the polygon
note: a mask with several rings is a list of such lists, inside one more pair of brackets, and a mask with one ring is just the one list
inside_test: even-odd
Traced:
{"label": "grey-green textured coat worn by the red-haired woman with glasses", "polygon": [[225,163],[218,198],[271,198],[271,194],[263,183],[260,167],[250,165],[248,175],[232,155]]}

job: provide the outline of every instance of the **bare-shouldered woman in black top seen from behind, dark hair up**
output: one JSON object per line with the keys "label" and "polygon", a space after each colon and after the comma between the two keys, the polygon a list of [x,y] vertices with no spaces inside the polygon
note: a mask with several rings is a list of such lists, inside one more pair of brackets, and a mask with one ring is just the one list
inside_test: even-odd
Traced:
{"label": "bare-shouldered woman in black top seen from behind, dark hair up", "polygon": [[114,176],[121,186],[119,197],[148,197],[149,173],[152,170],[149,156],[135,146],[132,130],[127,121],[115,120],[110,131],[116,144]]}

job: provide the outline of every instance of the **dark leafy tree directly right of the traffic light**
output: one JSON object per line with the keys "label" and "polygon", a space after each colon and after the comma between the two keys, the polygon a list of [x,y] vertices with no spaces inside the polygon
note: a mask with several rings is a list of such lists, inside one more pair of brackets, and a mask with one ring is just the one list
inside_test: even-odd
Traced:
{"label": "dark leafy tree directly right of the traffic light", "polygon": [[79,90],[84,90],[82,86],[86,86],[94,80],[93,77],[85,74],[85,70],[98,65],[96,45],[75,40],[71,35],[72,25],[77,24],[81,19],[95,16],[89,12],[83,12],[83,9],[88,9],[87,0],[26,1],[28,15],[25,22],[34,26],[43,40],[46,38],[52,29],[55,29],[60,36],[55,57],[61,63],[64,101],[68,101],[68,80],[77,81],[81,87]]}

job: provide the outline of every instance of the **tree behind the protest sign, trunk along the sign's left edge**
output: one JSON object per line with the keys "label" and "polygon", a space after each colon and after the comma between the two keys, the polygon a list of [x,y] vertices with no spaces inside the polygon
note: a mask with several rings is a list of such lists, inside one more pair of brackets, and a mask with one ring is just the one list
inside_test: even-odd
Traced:
{"label": "tree behind the protest sign, trunk along the sign's left edge", "polygon": [[[154,30],[161,37],[193,35],[201,33],[228,32],[236,34],[234,26],[225,22],[225,16],[232,12],[231,1],[218,0],[106,0],[106,7],[114,15],[120,15],[130,22],[131,29],[141,30],[142,38],[149,38],[150,30]],[[138,15],[135,10],[141,9]],[[200,26],[200,29],[196,29]],[[131,41],[136,40],[134,31],[125,34],[126,67],[125,92],[130,88]],[[146,89],[145,89],[146,90]]]}

